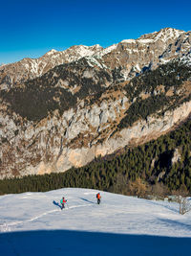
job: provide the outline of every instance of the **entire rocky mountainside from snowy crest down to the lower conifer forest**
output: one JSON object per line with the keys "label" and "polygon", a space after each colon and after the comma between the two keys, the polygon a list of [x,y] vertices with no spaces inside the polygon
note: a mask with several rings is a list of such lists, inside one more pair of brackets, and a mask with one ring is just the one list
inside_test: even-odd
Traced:
{"label": "entire rocky mountainside from snowy crest down to the lower conifer forest", "polygon": [[191,33],[164,29],[0,67],[0,177],[64,172],[191,113]]}

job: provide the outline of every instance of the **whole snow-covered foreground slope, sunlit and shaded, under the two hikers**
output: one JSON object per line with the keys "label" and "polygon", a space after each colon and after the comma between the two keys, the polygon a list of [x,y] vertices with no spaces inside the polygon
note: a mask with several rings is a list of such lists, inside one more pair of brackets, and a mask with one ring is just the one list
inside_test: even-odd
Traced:
{"label": "whole snow-covered foreground slope, sunlit and shaded, under the two hikers", "polygon": [[[191,213],[175,202],[96,190],[60,189],[0,197],[1,255],[184,255]],[[60,209],[60,199],[68,199]],[[21,232],[17,232],[21,231]]]}

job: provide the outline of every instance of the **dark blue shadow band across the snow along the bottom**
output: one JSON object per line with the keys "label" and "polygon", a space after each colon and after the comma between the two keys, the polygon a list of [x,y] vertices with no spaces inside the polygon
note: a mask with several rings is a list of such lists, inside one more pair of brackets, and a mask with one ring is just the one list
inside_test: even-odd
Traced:
{"label": "dark blue shadow band across the snow along the bottom", "polygon": [[38,230],[0,234],[1,255],[189,255],[190,238]]}

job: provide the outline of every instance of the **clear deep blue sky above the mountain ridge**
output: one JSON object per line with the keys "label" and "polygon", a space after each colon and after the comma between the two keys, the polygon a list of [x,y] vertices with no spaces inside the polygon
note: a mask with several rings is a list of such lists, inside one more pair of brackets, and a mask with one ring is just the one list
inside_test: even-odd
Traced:
{"label": "clear deep blue sky above the mountain ridge", "polygon": [[189,0],[2,0],[0,63],[75,44],[106,47],[166,27],[189,31],[190,16]]}

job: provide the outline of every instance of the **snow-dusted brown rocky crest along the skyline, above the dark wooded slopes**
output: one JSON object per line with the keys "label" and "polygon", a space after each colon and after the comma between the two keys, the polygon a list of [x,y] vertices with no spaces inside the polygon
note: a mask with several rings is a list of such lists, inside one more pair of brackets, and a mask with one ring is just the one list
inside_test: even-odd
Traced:
{"label": "snow-dusted brown rocky crest along the skyline, above the dark wooded slopes", "polygon": [[155,69],[159,64],[178,58],[190,51],[191,33],[171,28],[141,35],[138,39],[125,39],[102,48],[75,45],[58,52],[51,50],[41,58],[24,58],[0,67],[0,88],[42,76],[54,66],[75,61],[83,57],[94,57],[110,69],[121,67],[125,80],[131,79],[145,67]]}

